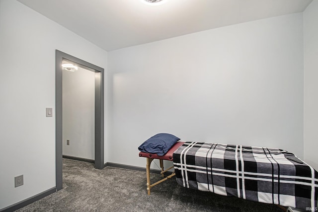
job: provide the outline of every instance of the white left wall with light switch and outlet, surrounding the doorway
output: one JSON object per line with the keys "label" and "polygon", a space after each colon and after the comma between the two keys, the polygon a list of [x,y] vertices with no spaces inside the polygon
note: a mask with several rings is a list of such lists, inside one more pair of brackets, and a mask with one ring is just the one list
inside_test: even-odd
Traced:
{"label": "white left wall with light switch and outlet, surrounding the doorway", "polygon": [[[0,0],[0,209],[55,187],[56,49],[107,67],[104,50],[18,1]],[[24,185],[14,188],[21,174]]]}

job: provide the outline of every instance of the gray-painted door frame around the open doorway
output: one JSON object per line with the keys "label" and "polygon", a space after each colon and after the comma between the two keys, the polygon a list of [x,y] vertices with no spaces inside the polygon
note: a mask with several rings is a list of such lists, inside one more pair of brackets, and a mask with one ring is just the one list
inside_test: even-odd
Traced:
{"label": "gray-painted door frame around the open doorway", "polygon": [[80,67],[85,68],[95,73],[95,168],[104,168],[104,69],[95,66],[91,63],[83,61],[72,55],[66,54],[56,50],[56,64],[55,64],[55,116],[56,116],[56,189],[57,191],[63,188],[62,177],[62,61],[63,59],[73,61]]}

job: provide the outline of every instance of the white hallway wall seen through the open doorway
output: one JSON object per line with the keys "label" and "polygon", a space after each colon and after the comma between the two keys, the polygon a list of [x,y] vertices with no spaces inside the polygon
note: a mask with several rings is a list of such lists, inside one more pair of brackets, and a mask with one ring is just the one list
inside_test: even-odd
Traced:
{"label": "white hallway wall seen through the open doorway", "polygon": [[62,75],[63,155],[94,160],[95,73],[79,67]]}

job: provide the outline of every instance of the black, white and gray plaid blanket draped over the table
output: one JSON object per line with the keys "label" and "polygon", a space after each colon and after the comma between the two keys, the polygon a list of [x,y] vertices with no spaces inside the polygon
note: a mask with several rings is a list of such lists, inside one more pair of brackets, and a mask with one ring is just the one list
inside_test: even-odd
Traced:
{"label": "black, white and gray plaid blanket draped over the table", "polygon": [[318,172],[285,150],[185,142],[173,153],[177,182],[186,188],[317,211]]}

